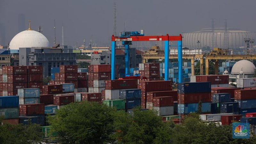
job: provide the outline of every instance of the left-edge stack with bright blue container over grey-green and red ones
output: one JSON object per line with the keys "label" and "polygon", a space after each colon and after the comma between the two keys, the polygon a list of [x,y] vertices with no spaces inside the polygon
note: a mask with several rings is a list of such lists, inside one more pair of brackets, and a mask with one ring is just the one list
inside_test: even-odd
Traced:
{"label": "left-edge stack with bright blue container over grey-green and red ones", "polygon": [[4,123],[19,123],[19,96],[0,96],[0,116],[4,116]]}

